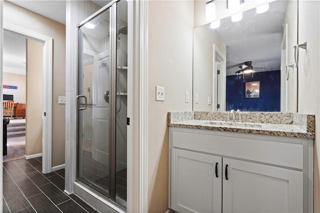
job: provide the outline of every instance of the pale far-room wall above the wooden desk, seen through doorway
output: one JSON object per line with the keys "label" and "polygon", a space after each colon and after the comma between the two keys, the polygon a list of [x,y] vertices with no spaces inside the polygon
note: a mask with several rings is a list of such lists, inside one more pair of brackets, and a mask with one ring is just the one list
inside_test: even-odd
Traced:
{"label": "pale far-room wall above the wooden desk, seen through doorway", "polygon": [[14,85],[18,89],[3,88],[3,94],[13,94],[15,103],[25,103],[25,75],[4,72],[3,69],[3,85]]}

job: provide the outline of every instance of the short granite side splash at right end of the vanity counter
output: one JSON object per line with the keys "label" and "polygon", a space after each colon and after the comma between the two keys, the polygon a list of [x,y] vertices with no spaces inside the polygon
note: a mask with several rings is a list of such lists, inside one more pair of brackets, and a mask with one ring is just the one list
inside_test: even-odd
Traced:
{"label": "short granite side splash at right end of the vanity counter", "polygon": [[293,113],[293,124],[306,132],[315,132],[314,114]]}

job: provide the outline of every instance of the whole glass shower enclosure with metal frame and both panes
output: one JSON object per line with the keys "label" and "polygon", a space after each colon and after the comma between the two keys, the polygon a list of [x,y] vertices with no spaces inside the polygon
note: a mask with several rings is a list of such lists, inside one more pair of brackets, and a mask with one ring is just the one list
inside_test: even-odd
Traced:
{"label": "whole glass shower enclosure with metal frame and both panes", "polygon": [[78,25],[77,81],[77,179],[126,208],[126,0]]}

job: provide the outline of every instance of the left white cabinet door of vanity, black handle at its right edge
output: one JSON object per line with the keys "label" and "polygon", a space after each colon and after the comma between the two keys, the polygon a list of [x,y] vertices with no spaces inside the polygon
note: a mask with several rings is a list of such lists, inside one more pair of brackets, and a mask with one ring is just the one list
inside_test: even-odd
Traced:
{"label": "left white cabinet door of vanity, black handle at its right edge", "polygon": [[221,159],[214,155],[172,148],[173,210],[221,212]]}

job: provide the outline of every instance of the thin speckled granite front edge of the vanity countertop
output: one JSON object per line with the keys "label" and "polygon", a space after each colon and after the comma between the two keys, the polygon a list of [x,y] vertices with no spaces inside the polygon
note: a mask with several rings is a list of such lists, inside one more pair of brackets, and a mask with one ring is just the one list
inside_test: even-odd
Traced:
{"label": "thin speckled granite front edge of the vanity countertop", "polygon": [[266,134],[266,135],[286,136],[286,137],[314,138],[314,133],[308,133],[308,132],[265,130],[265,129],[251,129],[251,128],[235,128],[235,127],[224,127],[224,126],[205,126],[205,125],[192,125],[192,124],[179,124],[179,123],[170,123],[169,126],[183,127],[183,128],[208,129],[208,130],[216,130],[216,131],[251,133],[251,134]]}

